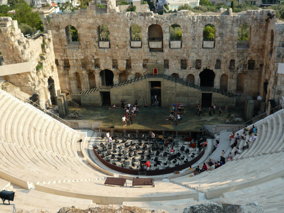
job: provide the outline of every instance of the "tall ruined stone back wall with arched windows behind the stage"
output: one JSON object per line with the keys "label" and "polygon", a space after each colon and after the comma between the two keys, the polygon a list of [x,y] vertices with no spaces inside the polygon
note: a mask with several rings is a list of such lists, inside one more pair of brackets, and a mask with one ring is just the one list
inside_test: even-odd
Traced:
{"label": "tall ruined stone back wall with arched windows behind the stage", "polygon": [[[237,78],[245,75],[245,95],[258,96],[262,81],[262,69],[269,25],[267,13],[270,10],[248,10],[240,15],[194,15],[191,11],[178,11],[177,14],[156,15],[152,12],[131,13],[112,12],[96,13],[93,10],[78,10],[69,14],[51,14],[44,23],[45,30],[51,30],[54,42],[55,57],[58,60],[58,72],[61,89],[70,92],[78,91],[75,73],[80,75],[81,90],[89,88],[88,74],[96,76],[96,86],[101,85],[100,72],[109,69],[114,74],[114,84],[119,81],[119,74],[126,73],[133,79],[136,73],[146,74],[143,66],[148,63],[164,63],[169,60],[169,68],[164,74],[178,74],[186,79],[193,74],[195,84],[199,85],[199,74],[205,68],[215,73],[214,87],[220,88],[220,78],[228,76],[228,91],[236,92]],[[170,26],[178,24],[182,28],[182,48],[170,48]],[[215,48],[203,49],[203,28],[207,24],[215,26]],[[250,25],[249,49],[238,49],[238,28],[242,23]],[[98,27],[106,25],[110,31],[110,48],[99,48]],[[137,24],[141,28],[141,48],[130,47],[130,27]],[[65,27],[77,28],[79,42],[67,43]],[[163,31],[163,52],[151,52],[148,44],[148,28],[159,25]],[[113,68],[113,59],[117,60],[117,68]],[[126,60],[131,59],[131,68],[126,68]],[[181,68],[181,60],[186,60],[186,68]],[[201,67],[196,68],[197,60]],[[216,61],[221,67],[215,68]],[[235,60],[234,67],[230,61]],[[248,70],[248,60],[253,60],[253,70]],[[68,61],[68,66],[64,61]],[[99,61],[99,65],[98,65]],[[200,61],[199,61],[200,62]],[[183,61],[184,63],[184,61]],[[78,75],[76,74],[76,75]]]}

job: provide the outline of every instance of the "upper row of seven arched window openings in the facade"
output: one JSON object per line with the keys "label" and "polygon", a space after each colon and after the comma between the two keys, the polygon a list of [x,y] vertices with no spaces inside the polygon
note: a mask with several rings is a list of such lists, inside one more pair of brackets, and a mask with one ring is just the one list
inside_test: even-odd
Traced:
{"label": "upper row of seven arched window openings in the facade", "polygon": [[[78,42],[79,34],[78,30],[72,26],[65,27],[67,42]],[[131,40],[142,40],[141,27],[134,24],[130,27],[130,39]],[[248,41],[250,38],[251,27],[248,23],[243,23],[238,29],[238,41]],[[110,31],[106,25],[100,25],[98,27],[98,35],[100,40],[110,40]],[[163,30],[160,25],[151,25],[148,27],[149,39],[157,39],[163,37]],[[170,26],[170,39],[180,40],[182,37],[182,28],[174,24]],[[203,28],[203,40],[215,40],[215,26],[209,23]]]}

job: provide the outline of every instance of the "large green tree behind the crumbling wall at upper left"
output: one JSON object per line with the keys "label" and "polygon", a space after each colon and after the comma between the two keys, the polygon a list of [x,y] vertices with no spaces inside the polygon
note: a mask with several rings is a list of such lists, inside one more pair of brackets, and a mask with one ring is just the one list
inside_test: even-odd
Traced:
{"label": "large green tree behind the crumbling wall at upper left", "polygon": [[43,23],[38,12],[33,12],[27,2],[20,4],[16,9],[16,14],[13,19],[20,23],[26,23],[32,28],[43,31]]}

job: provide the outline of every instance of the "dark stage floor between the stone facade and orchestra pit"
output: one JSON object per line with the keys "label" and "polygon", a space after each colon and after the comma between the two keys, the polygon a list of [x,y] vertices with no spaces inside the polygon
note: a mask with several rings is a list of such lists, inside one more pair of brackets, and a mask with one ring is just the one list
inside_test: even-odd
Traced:
{"label": "dark stage floor between the stone facade and orchestra pit", "polygon": [[212,113],[212,117],[209,117],[207,108],[202,108],[202,116],[198,116],[195,115],[197,112],[196,109],[185,106],[185,113],[182,114],[182,121],[178,123],[177,126],[174,126],[171,125],[170,121],[165,120],[169,118],[169,108],[159,107],[158,109],[155,109],[155,106],[152,105],[147,108],[139,107],[140,111],[136,113],[137,116],[134,117],[133,125],[124,126],[122,117],[125,115],[125,110],[121,108],[108,109],[108,107],[110,106],[69,106],[69,113],[74,113],[78,110],[79,114],[84,116],[84,119],[66,120],[67,116],[63,119],[67,122],[77,123],[77,126],[73,127],[76,129],[84,127],[90,129],[91,125],[84,126],[83,123],[93,123],[92,126],[96,128],[92,129],[109,131],[110,127],[114,126],[115,131],[123,131],[126,129],[133,131],[139,130],[140,132],[149,130],[181,132],[200,131],[200,129],[203,128],[203,125],[225,124],[225,120],[228,119],[231,114],[234,114],[235,117],[240,117],[243,119],[243,122],[245,122],[244,110],[230,110],[227,114],[225,114],[223,110],[220,117],[218,110],[216,110],[215,114]]}

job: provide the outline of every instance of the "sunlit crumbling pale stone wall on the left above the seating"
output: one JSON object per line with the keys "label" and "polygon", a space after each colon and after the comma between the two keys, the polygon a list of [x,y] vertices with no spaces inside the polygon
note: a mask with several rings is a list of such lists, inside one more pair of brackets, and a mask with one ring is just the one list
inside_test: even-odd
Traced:
{"label": "sunlit crumbling pale stone wall on the left above the seating", "polygon": [[[1,17],[0,27],[0,52],[5,64],[28,61],[33,64],[32,72],[9,75],[5,77],[6,80],[30,95],[38,94],[39,104],[45,108],[51,104],[48,79],[51,77],[54,80],[54,96],[60,89],[51,31],[44,33],[43,37],[27,39],[18,29],[17,21],[11,17]],[[42,68],[36,69],[38,64],[42,64]]]}

